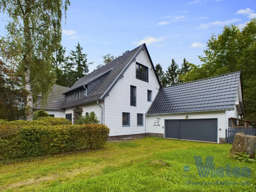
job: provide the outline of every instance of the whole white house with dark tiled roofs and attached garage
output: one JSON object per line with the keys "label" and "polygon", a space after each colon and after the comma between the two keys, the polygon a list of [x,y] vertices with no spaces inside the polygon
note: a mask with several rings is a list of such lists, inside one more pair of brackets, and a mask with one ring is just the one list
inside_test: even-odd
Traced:
{"label": "whole white house with dark tiled roofs and attached garage", "polygon": [[144,135],[223,142],[230,117],[243,113],[241,74],[234,72],[162,88],[145,44],[80,78],[71,88],[54,85],[51,116],[75,122],[94,112],[109,139]]}

